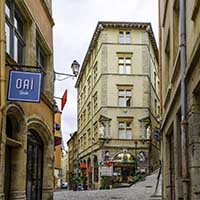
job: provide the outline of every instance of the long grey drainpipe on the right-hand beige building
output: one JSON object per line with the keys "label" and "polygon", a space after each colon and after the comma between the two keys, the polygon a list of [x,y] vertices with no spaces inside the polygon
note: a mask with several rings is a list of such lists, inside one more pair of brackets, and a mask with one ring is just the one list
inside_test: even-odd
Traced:
{"label": "long grey drainpipe on the right-hand beige building", "polygon": [[181,144],[182,144],[182,182],[184,200],[189,199],[189,179],[188,179],[188,122],[187,122],[187,92],[185,82],[186,68],[186,16],[185,0],[180,0],[180,65],[181,65]]}

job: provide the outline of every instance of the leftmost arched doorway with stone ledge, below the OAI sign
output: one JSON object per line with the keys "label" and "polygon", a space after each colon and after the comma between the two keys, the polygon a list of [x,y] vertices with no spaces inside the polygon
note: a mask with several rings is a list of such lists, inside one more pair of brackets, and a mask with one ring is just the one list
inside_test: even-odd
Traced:
{"label": "leftmost arched doorway with stone ledge, below the OAI sign", "polygon": [[5,200],[25,197],[23,191],[22,172],[24,167],[24,140],[25,121],[23,110],[18,105],[10,104],[6,112],[5,121],[5,160],[4,160],[4,195]]}

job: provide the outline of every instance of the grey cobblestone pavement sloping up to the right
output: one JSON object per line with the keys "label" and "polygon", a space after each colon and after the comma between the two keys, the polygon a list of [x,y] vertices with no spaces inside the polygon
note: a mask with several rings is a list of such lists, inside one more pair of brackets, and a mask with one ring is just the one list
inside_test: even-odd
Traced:
{"label": "grey cobblestone pavement sloping up to the right", "polygon": [[[54,193],[54,200],[159,200],[161,198],[151,197],[155,192],[157,174],[146,177],[145,181],[138,182],[128,188],[117,188],[111,190],[85,190],[66,191],[60,190]],[[161,194],[159,184],[159,194]]]}

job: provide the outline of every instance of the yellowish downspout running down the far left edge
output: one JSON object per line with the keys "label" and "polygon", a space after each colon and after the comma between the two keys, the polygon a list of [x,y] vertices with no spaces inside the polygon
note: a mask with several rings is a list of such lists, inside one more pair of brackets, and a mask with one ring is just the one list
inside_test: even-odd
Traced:
{"label": "yellowish downspout running down the far left edge", "polygon": [[[5,71],[5,1],[0,1],[0,138],[3,132],[3,110],[6,105],[6,71]],[[1,140],[1,139],[0,139]]]}

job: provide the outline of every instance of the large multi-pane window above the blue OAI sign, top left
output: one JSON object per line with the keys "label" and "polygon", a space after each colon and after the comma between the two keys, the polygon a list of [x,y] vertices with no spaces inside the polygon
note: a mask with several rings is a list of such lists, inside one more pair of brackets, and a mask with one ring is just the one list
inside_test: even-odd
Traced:
{"label": "large multi-pane window above the blue OAI sign, top left", "polygon": [[19,64],[24,63],[25,21],[14,1],[6,1],[6,52]]}

